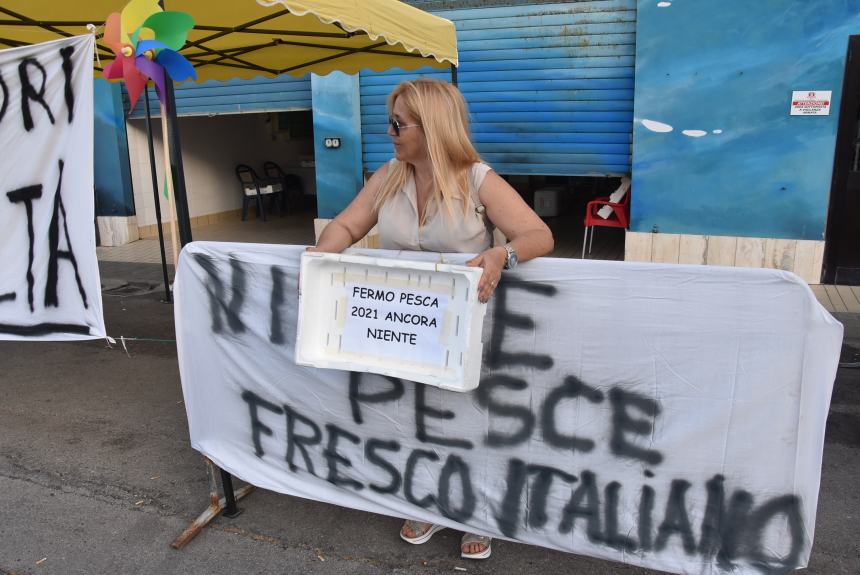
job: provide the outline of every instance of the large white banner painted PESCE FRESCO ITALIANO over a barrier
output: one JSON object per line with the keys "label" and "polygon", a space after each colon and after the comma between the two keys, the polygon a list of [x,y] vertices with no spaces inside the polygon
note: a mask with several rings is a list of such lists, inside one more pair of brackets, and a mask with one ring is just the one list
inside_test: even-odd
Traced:
{"label": "large white banner painted PESCE FRESCO ITALIANO over a barrier", "polygon": [[458,393],[296,366],[301,251],[182,253],[191,441],[230,473],[676,573],[807,564],[842,326],[793,274],[528,262],[503,274],[480,386]]}

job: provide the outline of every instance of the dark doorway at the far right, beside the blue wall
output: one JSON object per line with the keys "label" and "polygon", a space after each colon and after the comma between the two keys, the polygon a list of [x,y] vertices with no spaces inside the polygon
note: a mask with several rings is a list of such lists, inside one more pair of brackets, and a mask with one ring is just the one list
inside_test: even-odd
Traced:
{"label": "dark doorway at the far right, beside the blue wall", "polygon": [[860,36],[848,43],[822,276],[822,283],[860,285]]}

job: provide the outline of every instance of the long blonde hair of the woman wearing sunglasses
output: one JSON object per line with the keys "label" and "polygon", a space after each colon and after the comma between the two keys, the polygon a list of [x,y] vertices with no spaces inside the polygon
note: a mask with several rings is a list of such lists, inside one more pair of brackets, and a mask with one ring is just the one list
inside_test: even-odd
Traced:
{"label": "long blonde hair of the woman wearing sunglasses", "polygon": [[[388,96],[388,113],[393,114],[394,102],[402,102],[409,114],[422,126],[427,140],[427,151],[433,167],[432,201],[437,209],[444,206],[453,217],[453,199],[457,186],[463,199],[463,210],[468,205],[468,173],[481,157],[469,139],[469,112],[463,94],[447,82],[421,78],[401,82]],[[376,196],[378,210],[398,190],[402,189],[414,168],[407,162],[394,161]],[[427,214],[427,210],[424,210]]]}

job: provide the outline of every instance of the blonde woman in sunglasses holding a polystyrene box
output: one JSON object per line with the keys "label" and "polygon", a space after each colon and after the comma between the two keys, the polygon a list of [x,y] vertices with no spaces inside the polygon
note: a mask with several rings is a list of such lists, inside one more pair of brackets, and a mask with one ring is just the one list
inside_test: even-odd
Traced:
{"label": "blonde woman in sunglasses holding a polystyrene box", "polygon": [[[384,249],[477,253],[478,299],[486,302],[502,271],[552,251],[546,224],[505,180],[481,162],[469,140],[463,95],[438,80],[403,82],[388,97],[395,157],[326,226],[313,251],[340,252],[378,225]],[[498,228],[508,242],[493,245]],[[442,527],[407,520],[400,536],[425,543]],[[461,556],[485,559],[491,540],[466,533]]]}

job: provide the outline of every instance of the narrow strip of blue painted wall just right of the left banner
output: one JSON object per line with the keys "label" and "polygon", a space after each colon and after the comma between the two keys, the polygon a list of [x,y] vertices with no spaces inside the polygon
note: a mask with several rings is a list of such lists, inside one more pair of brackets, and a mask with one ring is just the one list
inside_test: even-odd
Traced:
{"label": "narrow strip of blue painted wall just right of the left banner", "polygon": [[134,215],[122,89],[101,78],[94,83],[94,170],[98,216]]}

